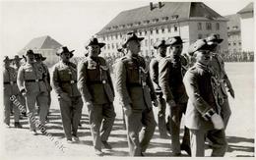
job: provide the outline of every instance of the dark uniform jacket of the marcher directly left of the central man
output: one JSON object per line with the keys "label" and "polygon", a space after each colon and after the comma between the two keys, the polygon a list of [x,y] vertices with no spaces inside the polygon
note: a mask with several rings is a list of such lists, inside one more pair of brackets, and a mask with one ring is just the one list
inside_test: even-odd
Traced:
{"label": "dark uniform jacket of the marcher directly left of the central man", "polygon": [[95,104],[113,102],[113,83],[102,57],[87,57],[79,63],[78,88],[86,101]]}

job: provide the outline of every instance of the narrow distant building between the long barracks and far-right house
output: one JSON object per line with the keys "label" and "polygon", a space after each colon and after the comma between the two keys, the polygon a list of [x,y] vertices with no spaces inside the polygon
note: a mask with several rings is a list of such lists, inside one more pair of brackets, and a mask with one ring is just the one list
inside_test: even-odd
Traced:
{"label": "narrow distant building between the long barracks and far-right house", "polygon": [[228,53],[241,52],[241,27],[240,15],[233,14],[224,16],[227,22],[227,49]]}

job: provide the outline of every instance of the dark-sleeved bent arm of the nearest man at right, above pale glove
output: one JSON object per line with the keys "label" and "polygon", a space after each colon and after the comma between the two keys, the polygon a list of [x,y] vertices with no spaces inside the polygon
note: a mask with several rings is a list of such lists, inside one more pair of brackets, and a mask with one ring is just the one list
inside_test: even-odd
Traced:
{"label": "dark-sleeved bent arm of the nearest man at right, above pale glove", "polygon": [[202,98],[198,87],[197,75],[188,71],[183,79],[189,100],[193,106],[206,120],[210,120],[211,116],[216,112],[215,110]]}

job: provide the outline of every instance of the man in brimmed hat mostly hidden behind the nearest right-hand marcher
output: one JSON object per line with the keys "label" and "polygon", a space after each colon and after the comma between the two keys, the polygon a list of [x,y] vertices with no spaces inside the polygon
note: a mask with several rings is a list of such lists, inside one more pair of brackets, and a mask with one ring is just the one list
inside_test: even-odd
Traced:
{"label": "man in brimmed hat mostly hidden behind the nearest right-hand marcher", "polygon": [[231,110],[228,103],[228,97],[226,92],[230,93],[230,95],[234,98],[234,91],[231,85],[230,80],[224,71],[224,60],[222,59],[220,53],[218,53],[218,46],[222,43],[224,39],[218,38],[217,34],[211,34],[206,38],[208,44],[212,46],[212,59],[209,63],[209,67],[215,76],[215,92],[217,103],[222,108],[222,117],[224,119],[224,128],[226,128],[229,117],[231,115]]}

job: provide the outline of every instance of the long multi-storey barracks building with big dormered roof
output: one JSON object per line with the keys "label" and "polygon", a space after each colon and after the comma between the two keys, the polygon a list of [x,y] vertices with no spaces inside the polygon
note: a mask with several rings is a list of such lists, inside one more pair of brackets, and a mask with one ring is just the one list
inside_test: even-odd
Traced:
{"label": "long multi-storey barracks building with big dormered roof", "polygon": [[224,39],[222,50],[227,50],[226,22],[223,16],[202,2],[159,2],[123,11],[96,33],[106,43],[103,56],[117,56],[124,35],[136,31],[144,36],[141,54],[153,56],[153,44],[161,39],[180,35],[186,41],[183,52],[198,38],[217,33]]}

